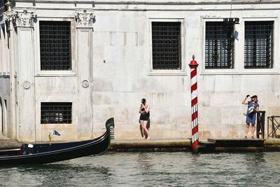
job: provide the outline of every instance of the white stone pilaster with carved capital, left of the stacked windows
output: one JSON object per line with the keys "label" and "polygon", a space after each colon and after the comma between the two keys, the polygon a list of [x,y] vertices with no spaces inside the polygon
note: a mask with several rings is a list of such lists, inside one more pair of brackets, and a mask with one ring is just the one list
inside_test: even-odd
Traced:
{"label": "white stone pilaster with carved capital, left of the stacked windows", "polygon": [[36,140],[34,90],[34,11],[14,11],[18,38],[18,139]]}

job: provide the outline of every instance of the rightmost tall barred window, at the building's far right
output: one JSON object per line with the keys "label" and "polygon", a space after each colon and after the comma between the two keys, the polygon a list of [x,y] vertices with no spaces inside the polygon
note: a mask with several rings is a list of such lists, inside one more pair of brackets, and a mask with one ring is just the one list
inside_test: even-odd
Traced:
{"label": "rightmost tall barred window, at the building's far right", "polygon": [[245,68],[272,68],[273,21],[245,22]]}

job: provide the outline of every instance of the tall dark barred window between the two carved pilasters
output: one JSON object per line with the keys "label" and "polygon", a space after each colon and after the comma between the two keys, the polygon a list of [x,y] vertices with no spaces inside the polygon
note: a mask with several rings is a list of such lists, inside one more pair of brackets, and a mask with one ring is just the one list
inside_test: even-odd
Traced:
{"label": "tall dark barred window between the two carved pilasters", "polygon": [[71,22],[40,21],[41,70],[71,70]]}

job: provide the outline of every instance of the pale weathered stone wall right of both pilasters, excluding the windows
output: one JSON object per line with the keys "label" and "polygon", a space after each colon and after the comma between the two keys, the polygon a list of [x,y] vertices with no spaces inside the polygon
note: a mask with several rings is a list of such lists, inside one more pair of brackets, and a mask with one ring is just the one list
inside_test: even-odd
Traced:
{"label": "pale weathered stone wall right of both pilasters, excluding the windows", "polygon": [[[264,6],[270,7],[267,4]],[[138,7],[138,6],[137,6]],[[196,9],[195,6],[190,6]],[[146,6],[151,11],[97,11],[94,23],[94,129],[102,118],[115,116],[116,138],[136,138],[139,135],[139,102],[146,97],[151,104],[151,134],[153,138],[190,137],[190,76],[185,74],[151,71],[151,22],[153,19],[183,20],[186,44],[184,63],[196,55],[199,76],[200,135],[207,137],[243,137],[245,95],[258,95],[260,110],[267,115],[279,114],[279,63],[276,46],[279,11],[207,11],[228,6],[209,5],[197,11],[174,6]],[[258,5],[251,8],[259,8]],[[99,6],[97,6],[98,10]],[[154,8],[154,9],[153,9]],[[249,8],[244,6],[243,8]],[[169,9],[172,9],[168,11]],[[197,8],[198,9],[198,8]],[[235,68],[230,70],[204,69],[204,24],[209,20],[239,18],[235,29]],[[272,19],[273,18],[273,19]],[[277,18],[277,19],[274,19]],[[244,69],[244,21],[274,20],[275,45],[273,69]],[[129,44],[128,44],[129,43]],[[103,63],[106,60],[106,63]],[[101,112],[101,113],[99,113]],[[95,125],[96,124],[96,125]]]}

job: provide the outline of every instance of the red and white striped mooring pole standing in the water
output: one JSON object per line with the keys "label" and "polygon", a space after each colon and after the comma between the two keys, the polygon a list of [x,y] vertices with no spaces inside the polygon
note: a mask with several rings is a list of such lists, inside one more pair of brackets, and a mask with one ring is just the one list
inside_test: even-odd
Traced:
{"label": "red and white striped mooring pole standing in the water", "polygon": [[195,55],[190,61],[190,95],[192,105],[192,148],[194,152],[198,151],[198,110],[197,110],[197,67]]}

